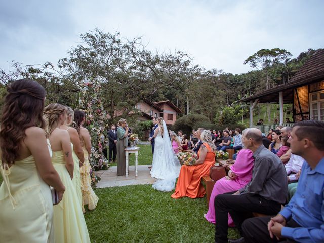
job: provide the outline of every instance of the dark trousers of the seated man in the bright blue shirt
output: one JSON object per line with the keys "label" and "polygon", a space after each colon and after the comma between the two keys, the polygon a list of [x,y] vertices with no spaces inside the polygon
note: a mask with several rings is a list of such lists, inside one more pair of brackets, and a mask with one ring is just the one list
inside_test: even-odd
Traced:
{"label": "dark trousers of the seated man in the bright blue shirt", "polygon": [[[268,222],[270,218],[273,216],[267,217],[256,217],[247,219],[242,224],[243,236],[245,242],[251,243],[267,243],[267,242],[296,242],[292,239],[280,239],[277,240],[275,236],[273,239],[270,238],[269,231],[268,231]],[[297,228],[301,227],[295,220],[290,219],[287,224],[287,227]]]}

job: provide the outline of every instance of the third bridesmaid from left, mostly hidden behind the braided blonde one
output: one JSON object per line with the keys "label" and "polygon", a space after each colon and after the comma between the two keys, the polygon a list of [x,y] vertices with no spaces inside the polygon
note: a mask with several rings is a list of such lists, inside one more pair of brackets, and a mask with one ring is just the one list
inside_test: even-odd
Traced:
{"label": "third bridesmaid from left, mostly hidden behind the braided blonde one", "polygon": [[65,106],[67,116],[64,124],[60,126],[61,129],[66,130],[71,138],[71,147],[72,147],[72,157],[74,161],[74,170],[73,170],[73,185],[79,199],[80,205],[82,205],[82,191],[81,191],[81,174],[80,167],[83,166],[85,161],[83,150],[80,143],[79,135],[75,128],[69,127],[74,120],[74,111],[71,107]]}

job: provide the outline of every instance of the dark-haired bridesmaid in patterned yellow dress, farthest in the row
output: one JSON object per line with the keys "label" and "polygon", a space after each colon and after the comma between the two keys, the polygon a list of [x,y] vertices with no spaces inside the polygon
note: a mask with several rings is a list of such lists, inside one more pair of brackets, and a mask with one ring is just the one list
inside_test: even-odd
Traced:
{"label": "dark-haired bridesmaid in patterned yellow dress, farthest in the row", "polygon": [[[80,168],[83,204],[88,205],[88,209],[93,210],[96,208],[99,198],[91,187],[91,177],[90,177],[91,166],[89,163],[89,154],[91,153],[91,138],[88,130],[83,127],[83,124],[85,123],[85,119],[86,119],[86,115],[83,111],[74,110],[75,126],[76,126],[76,130],[79,133],[82,150],[85,156],[85,163]],[[82,207],[83,212],[85,212],[84,205]]]}

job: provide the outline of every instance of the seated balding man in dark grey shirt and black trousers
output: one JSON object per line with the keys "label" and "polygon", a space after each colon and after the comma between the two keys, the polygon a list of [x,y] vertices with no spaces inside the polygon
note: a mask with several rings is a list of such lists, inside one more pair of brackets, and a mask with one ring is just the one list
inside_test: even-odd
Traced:
{"label": "seated balding man in dark grey shirt and black trousers", "polygon": [[[216,196],[215,242],[227,243],[228,213],[242,235],[242,223],[252,217],[252,212],[275,215],[286,202],[288,182],[281,160],[262,145],[262,133],[259,129],[248,128],[242,133],[242,143],[253,152],[254,168],[252,180],[237,192]],[[230,173],[230,179],[235,174]],[[229,242],[244,242],[243,238]]]}

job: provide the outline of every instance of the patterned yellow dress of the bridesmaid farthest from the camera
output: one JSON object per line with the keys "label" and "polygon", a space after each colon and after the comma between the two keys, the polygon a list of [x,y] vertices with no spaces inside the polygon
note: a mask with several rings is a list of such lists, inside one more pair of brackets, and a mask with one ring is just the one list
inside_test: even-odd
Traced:
{"label": "patterned yellow dress of the bridesmaid farthest from the camera", "polygon": [[83,197],[82,211],[85,212],[84,205],[88,205],[88,209],[93,210],[96,208],[99,198],[91,187],[91,177],[90,177],[91,166],[88,159],[89,153],[85,147],[82,147],[82,150],[85,157],[85,163],[80,168],[80,172],[81,172],[81,184],[82,184],[81,190],[82,190],[82,197]]}

